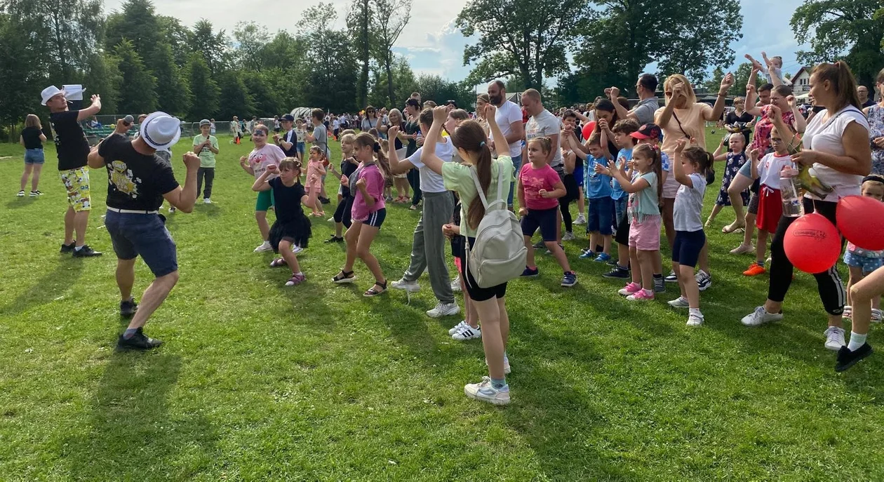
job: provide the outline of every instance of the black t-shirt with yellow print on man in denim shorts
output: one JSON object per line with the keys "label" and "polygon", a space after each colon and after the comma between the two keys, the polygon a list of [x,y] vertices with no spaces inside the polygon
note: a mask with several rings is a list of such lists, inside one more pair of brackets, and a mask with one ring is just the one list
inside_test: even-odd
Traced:
{"label": "black t-shirt with yellow print on man in denim shorts", "polygon": [[156,154],[141,154],[120,134],[98,146],[108,171],[107,205],[118,210],[158,210],[163,195],[179,187],[171,164]]}

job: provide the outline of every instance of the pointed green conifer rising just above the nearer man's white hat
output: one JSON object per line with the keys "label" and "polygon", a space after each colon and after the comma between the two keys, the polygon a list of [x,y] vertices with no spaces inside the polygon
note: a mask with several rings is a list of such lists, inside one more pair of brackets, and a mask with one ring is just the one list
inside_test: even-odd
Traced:
{"label": "pointed green conifer rising just above the nearer man's white hat", "polygon": [[132,42],[127,40],[119,42],[115,53],[119,58],[119,73],[122,77],[119,87],[119,111],[131,114],[155,111],[156,79],[144,66]]}

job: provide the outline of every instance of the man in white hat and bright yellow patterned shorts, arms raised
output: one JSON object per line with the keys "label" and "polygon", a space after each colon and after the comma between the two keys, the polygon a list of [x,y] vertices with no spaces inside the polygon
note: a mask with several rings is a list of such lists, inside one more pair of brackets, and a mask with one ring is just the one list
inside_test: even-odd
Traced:
{"label": "man in white hat and bright yellow patterned shorts, arms raised", "polygon": [[[58,173],[67,191],[65,242],[61,245],[61,252],[73,253],[74,257],[101,256],[100,252],[86,244],[92,198],[89,194],[89,170],[86,167],[89,143],[80,121],[101,111],[102,99],[92,96],[92,105],[86,109],[69,111],[64,90],[50,86],[43,89],[41,96],[41,103],[50,109],[50,124],[58,153]],[[74,233],[77,234],[76,241]]]}

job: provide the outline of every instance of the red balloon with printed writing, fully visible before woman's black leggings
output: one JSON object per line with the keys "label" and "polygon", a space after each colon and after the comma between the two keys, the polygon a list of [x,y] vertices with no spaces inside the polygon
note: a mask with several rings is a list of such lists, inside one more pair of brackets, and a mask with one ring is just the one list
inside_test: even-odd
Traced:
{"label": "red balloon with printed writing, fully visible before woman's black leggings", "polygon": [[789,261],[799,270],[811,274],[825,272],[838,262],[841,235],[831,221],[812,212],[797,218],[782,240]]}

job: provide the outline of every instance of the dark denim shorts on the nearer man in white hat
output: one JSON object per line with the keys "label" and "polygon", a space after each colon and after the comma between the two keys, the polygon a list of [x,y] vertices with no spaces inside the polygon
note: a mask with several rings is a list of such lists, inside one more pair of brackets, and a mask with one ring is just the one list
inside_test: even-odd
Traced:
{"label": "dark denim shorts on the nearer man in white hat", "polygon": [[156,278],[178,271],[175,241],[159,214],[133,214],[108,210],[104,226],[119,259],[141,256]]}

